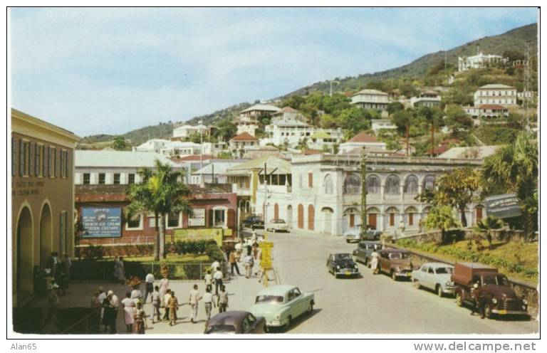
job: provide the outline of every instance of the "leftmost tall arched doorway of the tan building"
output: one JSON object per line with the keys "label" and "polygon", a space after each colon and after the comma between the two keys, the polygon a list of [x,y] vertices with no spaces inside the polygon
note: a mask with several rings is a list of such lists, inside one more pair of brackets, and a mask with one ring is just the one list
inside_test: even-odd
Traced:
{"label": "leftmost tall arched doorway of the tan building", "polygon": [[16,290],[33,292],[33,223],[31,211],[24,207],[19,214],[16,231]]}

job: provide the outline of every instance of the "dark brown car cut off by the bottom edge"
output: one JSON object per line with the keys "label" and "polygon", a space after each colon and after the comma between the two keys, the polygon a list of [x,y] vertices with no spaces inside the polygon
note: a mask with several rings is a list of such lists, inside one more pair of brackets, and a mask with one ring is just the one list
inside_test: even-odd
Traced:
{"label": "dark brown car cut off by the bottom edge", "polygon": [[206,334],[250,334],[266,332],[264,317],[255,317],[248,311],[221,312],[207,322]]}

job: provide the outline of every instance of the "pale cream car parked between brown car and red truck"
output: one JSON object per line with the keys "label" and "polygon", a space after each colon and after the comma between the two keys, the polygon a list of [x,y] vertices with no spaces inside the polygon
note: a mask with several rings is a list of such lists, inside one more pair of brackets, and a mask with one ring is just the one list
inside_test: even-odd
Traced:
{"label": "pale cream car parked between brown car and red truck", "polygon": [[412,271],[412,282],[418,289],[424,287],[434,290],[439,297],[445,294],[454,295],[452,273],[454,273],[452,265],[424,263],[420,268]]}

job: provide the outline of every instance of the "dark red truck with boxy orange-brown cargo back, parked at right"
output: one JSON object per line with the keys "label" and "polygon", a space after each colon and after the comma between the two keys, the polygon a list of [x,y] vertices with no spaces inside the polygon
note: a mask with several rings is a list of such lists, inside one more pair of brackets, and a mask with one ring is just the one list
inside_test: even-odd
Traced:
{"label": "dark red truck with boxy orange-brown cargo back, parked at right", "polygon": [[475,305],[476,295],[489,319],[494,315],[528,315],[528,301],[524,296],[517,297],[507,277],[498,273],[497,268],[481,263],[456,263],[452,280],[456,304],[460,307],[464,303]]}

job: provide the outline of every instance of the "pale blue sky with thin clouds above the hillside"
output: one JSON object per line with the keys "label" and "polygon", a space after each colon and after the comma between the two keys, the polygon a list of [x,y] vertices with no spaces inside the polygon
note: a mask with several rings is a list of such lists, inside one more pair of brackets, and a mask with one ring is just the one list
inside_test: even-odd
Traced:
{"label": "pale blue sky with thin clouds above the hillside", "polygon": [[11,106],[123,134],[395,68],[537,21],[535,8],[10,11]]}

